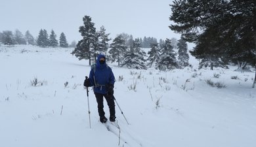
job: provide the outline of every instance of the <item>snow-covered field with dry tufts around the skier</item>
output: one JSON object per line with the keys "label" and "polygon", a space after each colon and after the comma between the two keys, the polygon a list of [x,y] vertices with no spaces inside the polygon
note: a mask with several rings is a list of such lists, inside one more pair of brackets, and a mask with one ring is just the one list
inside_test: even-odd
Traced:
{"label": "snow-covered field with dry tufts around the skier", "polygon": [[[114,95],[130,123],[116,106],[119,133],[99,122],[91,88],[90,129],[83,88],[90,67],[72,56],[72,50],[0,46],[0,146],[256,146],[254,69],[198,71],[192,57],[193,67],[169,72],[110,63],[116,76]],[[38,84],[33,85],[35,79]],[[106,102],[104,106],[108,118]]]}

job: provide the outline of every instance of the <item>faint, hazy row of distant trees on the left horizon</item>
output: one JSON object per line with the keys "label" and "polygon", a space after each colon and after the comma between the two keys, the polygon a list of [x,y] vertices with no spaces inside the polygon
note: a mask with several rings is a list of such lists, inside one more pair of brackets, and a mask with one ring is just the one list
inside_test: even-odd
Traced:
{"label": "faint, hazy row of distant trees on the left horizon", "polygon": [[[60,34],[60,38],[57,40],[56,33],[54,33],[53,30],[51,30],[51,34],[48,35],[45,29],[41,29],[39,31],[39,35],[36,39],[33,37],[33,35],[31,35],[30,31],[26,31],[25,35],[23,35],[18,29],[16,29],[14,33],[12,33],[12,31],[3,31],[0,32],[0,43],[5,45],[31,44],[43,48],[57,46],[62,48],[68,47],[68,42],[63,32]],[[70,47],[75,47],[75,45],[76,42],[73,41],[70,44]]]}

